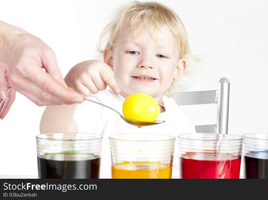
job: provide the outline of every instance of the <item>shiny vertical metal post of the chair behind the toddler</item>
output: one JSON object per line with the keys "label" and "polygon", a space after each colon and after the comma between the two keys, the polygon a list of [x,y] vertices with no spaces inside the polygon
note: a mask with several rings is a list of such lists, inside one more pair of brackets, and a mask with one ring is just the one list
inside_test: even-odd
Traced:
{"label": "shiny vertical metal post of the chair behind the toddler", "polygon": [[218,103],[217,133],[228,133],[229,92],[229,80],[221,78],[216,100]]}

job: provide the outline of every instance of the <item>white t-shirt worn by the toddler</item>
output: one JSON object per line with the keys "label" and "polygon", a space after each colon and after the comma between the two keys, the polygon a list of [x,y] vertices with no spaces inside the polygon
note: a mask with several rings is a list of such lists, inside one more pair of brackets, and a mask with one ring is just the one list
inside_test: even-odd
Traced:
{"label": "white t-shirt worn by the toddler", "polygon": [[[116,95],[111,90],[105,89],[87,98],[107,105],[123,115],[122,106],[125,98],[120,94]],[[93,102],[84,101],[82,104],[77,104],[73,116],[76,121],[77,132],[93,133],[103,136],[100,178],[111,178],[111,155],[108,137],[120,133],[154,133],[175,136],[172,177],[178,177],[177,136],[183,133],[195,133],[196,130],[187,115],[178,108],[173,99],[164,96],[163,104],[165,111],[159,113],[156,120],[164,120],[165,122],[142,128],[129,125],[116,112]]]}

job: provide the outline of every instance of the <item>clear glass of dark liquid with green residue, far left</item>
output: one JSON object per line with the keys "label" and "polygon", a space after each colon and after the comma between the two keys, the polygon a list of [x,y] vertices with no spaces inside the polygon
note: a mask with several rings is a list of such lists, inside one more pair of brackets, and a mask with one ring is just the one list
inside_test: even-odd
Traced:
{"label": "clear glass of dark liquid with green residue, far left", "polygon": [[102,136],[51,133],[36,139],[39,178],[99,178]]}

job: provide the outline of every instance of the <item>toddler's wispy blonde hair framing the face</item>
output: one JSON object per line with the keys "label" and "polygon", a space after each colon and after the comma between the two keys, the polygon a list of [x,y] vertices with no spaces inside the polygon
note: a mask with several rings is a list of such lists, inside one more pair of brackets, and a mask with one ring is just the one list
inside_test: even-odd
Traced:
{"label": "toddler's wispy blonde hair framing the face", "polygon": [[[189,60],[189,56],[191,56],[191,54],[188,36],[181,19],[166,5],[157,2],[133,1],[120,7],[117,10],[114,19],[107,24],[101,33],[100,42],[97,47],[100,55],[103,54],[105,49],[111,49],[114,46],[118,35],[127,25],[130,25],[134,31],[141,27],[147,28],[152,38],[157,36],[157,32],[162,26],[168,26],[172,35],[179,41],[178,44],[181,44],[179,47],[181,50],[181,58]],[[107,38],[106,40],[104,39],[105,37]],[[101,50],[103,43],[105,47]],[[188,73],[189,68],[187,66],[185,74]],[[164,95],[168,97],[175,97],[175,94],[183,89],[184,87],[181,79],[174,80]],[[162,98],[160,102],[161,101]]]}

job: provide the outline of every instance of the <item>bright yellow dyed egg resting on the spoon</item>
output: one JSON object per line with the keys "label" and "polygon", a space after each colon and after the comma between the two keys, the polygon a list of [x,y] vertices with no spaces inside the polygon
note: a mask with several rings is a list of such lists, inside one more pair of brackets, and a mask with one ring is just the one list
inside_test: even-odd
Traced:
{"label": "bright yellow dyed egg resting on the spoon", "polygon": [[130,121],[155,121],[159,114],[159,106],[153,97],[137,93],[128,96],[123,104],[123,114]]}

